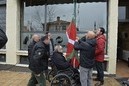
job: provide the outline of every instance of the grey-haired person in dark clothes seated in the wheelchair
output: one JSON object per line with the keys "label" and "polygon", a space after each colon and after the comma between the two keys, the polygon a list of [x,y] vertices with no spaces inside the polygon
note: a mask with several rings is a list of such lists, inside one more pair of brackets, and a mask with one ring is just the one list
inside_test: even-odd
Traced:
{"label": "grey-haired person in dark clothes seated in the wheelchair", "polygon": [[[63,56],[63,48],[61,45],[56,45],[53,52],[51,61],[56,66],[57,70],[71,69],[73,71],[73,79],[77,84],[80,84],[79,72],[77,69],[73,68],[71,64]],[[78,75],[78,76],[76,76]]]}

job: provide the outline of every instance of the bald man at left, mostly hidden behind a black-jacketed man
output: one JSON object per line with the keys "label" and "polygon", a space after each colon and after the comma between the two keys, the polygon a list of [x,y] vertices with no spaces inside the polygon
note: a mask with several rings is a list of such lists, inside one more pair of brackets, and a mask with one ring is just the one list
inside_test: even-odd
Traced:
{"label": "bald man at left, mostly hidden behind a black-jacketed man", "polygon": [[[37,34],[34,34],[32,36],[32,42],[30,42],[30,44],[28,45],[28,60],[30,61],[30,58],[31,58],[31,53],[32,53],[32,50],[33,50],[33,47],[34,45],[39,42],[40,40],[40,36],[37,35]],[[30,63],[30,62],[29,62]],[[29,83],[28,83],[28,86],[32,86],[32,85],[36,85],[38,83],[38,81],[36,80],[35,76],[33,73],[31,73],[31,78],[29,80]]]}

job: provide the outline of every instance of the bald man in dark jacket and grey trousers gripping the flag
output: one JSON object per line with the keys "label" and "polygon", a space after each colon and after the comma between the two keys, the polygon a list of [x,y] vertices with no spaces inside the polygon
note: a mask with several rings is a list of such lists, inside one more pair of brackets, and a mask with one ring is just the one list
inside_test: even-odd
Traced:
{"label": "bald man in dark jacket and grey trousers gripping the flag", "polygon": [[85,40],[78,40],[74,46],[80,50],[80,81],[81,86],[92,86],[92,71],[95,64],[96,39],[93,31],[88,31]]}

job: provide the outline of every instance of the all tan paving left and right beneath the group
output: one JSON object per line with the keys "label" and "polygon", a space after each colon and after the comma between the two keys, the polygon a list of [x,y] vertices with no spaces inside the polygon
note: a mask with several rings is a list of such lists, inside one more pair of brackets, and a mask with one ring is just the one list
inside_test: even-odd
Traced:
{"label": "all tan paving left and right beneath the group", "polygon": [[[27,86],[30,73],[0,71],[0,86]],[[94,82],[95,83],[95,82]],[[47,86],[50,84],[47,82]],[[121,86],[114,78],[105,78],[104,86]]]}

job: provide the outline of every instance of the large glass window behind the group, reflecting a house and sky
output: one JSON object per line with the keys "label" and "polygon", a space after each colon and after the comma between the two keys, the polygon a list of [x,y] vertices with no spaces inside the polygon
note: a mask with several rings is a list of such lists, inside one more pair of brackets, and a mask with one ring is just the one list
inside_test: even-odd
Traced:
{"label": "large glass window behind the group, reflecting a house and sky", "polygon": [[[24,5],[23,25],[21,28],[21,49],[27,50],[30,38],[34,33],[44,35],[52,33],[54,44],[57,38],[63,39],[61,45],[66,49],[65,30],[74,16],[74,4],[53,4],[41,6]],[[76,27],[79,37],[88,30],[104,27],[107,30],[107,2],[77,3]]]}

